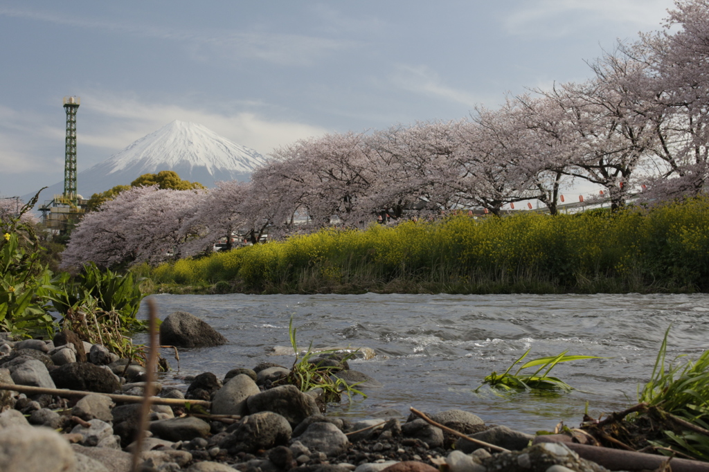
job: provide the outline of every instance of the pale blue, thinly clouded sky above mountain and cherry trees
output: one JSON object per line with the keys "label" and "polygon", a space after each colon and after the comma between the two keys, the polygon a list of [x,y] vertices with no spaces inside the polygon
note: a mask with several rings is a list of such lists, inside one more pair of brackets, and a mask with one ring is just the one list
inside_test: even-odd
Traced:
{"label": "pale blue, thinly clouded sky above mountain and cherry trees", "polygon": [[591,77],[672,0],[0,0],[0,196],[173,120],[268,154],[301,138],[456,120]]}

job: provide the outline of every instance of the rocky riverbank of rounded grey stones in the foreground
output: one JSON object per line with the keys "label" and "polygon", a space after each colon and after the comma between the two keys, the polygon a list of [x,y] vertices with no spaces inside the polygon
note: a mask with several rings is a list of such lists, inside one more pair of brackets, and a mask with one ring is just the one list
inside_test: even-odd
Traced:
{"label": "rocky riverbank of rounded grey stones in the foreground", "polygon": [[[188,327],[189,332],[170,334],[174,344],[225,342],[186,314],[179,317],[182,322],[164,322],[161,327],[161,335],[163,330]],[[142,366],[118,359],[99,344],[82,342],[71,332],[60,333],[50,342],[13,342],[0,334],[0,353],[0,384],[8,388],[0,390],[0,471],[130,470],[138,448],[135,437],[141,408],[130,402],[143,394]],[[347,370],[346,363],[341,367],[343,378],[366,377]],[[571,438],[552,438],[568,445],[539,442],[542,437],[486,425],[474,412],[445,410],[403,418],[400,412],[384,411],[360,421],[328,417],[323,414],[321,392],[302,393],[279,383],[289,372],[284,366],[262,362],[235,366],[224,378],[201,373],[186,379],[190,384],[184,392],[155,385],[155,403],[165,404],[154,404],[150,410],[139,470],[609,470],[576,454],[572,449],[579,449],[579,444],[571,444]],[[657,468],[662,459],[652,458],[657,461],[631,458],[631,466],[626,461],[623,470]],[[703,463],[686,462],[700,465],[682,469],[683,464],[674,459],[672,470],[709,471]],[[605,464],[620,470],[608,461]]]}

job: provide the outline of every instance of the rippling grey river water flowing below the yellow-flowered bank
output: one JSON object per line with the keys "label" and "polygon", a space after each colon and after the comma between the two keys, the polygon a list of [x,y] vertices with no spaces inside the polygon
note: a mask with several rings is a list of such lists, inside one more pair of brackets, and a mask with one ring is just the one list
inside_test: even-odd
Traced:
{"label": "rippling grey river water flowing below the yellow-flowered bank", "polygon": [[[369,347],[372,359],[350,361],[384,386],[328,409],[330,415],[372,417],[386,409],[437,412],[459,408],[486,422],[525,432],[577,426],[586,404],[592,416],[634,404],[647,381],[664,332],[667,359],[709,347],[709,295],[156,295],[161,319],[182,310],[221,332],[221,347],[182,349],[179,373],[163,383],[186,388],[180,376],[210,371],[219,378],[262,361],[291,366],[293,357],[272,355],[290,346],[291,317],[298,347]],[[141,308],[145,318],[146,303]],[[145,338],[138,339],[144,341]],[[571,393],[493,393],[474,389],[502,373],[527,349],[527,359],[559,354],[603,356],[559,364],[552,375]],[[292,350],[291,350],[292,352]],[[173,369],[177,367],[170,353]]]}

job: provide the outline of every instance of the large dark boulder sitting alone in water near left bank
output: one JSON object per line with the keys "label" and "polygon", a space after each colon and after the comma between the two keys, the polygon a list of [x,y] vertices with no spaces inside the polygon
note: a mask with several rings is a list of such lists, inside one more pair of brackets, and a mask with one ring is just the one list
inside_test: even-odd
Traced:
{"label": "large dark boulder sitting alone in water near left bank", "polygon": [[177,347],[221,346],[228,341],[191,313],[176,311],[160,325],[160,344]]}

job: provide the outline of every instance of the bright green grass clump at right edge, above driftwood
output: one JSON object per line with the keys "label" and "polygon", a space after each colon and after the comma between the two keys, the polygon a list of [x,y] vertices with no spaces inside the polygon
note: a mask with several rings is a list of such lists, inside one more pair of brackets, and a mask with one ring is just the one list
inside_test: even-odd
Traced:
{"label": "bright green grass clump at right edge, above driftwood", "polygon": [[[666,362],[668,327],[655,360],[652,376],[638,393],[656,420],[668,425],[665,439],[651,441],[660,451],[709,461],[709,351],[696,361]],[[671,427],[669,427],[671,426]]]}

